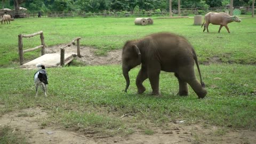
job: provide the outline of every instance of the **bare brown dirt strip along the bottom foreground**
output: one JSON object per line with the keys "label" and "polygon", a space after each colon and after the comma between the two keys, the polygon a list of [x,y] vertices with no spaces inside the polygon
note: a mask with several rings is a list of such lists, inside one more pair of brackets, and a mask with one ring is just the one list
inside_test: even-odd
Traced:
{"label": "bare brown dirt strip along the bottom foreground", "polygon": [[[83,134],[66,131],[60,127],[45,126],[42,120],[47,118],[47,111],[42,107],[21,109],[0,117],[0,126],[9,125],[13,133],[25,135],[28,143],[254,143],[256,132],[240,130],[222,132],[221,127],[186,122],[169,123],[164,127],[150,126],[151,135],[136,130],[133,134],[100,137],[99,133]],[[125,117],[129,118],[129,117]],[[41,122],[41,123],[40,123]]]}

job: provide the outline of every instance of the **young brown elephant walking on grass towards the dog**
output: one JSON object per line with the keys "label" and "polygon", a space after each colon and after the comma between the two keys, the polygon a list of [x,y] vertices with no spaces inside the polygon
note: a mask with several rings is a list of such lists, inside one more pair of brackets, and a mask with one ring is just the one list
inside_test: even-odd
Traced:
{"label": "young brown elephant walking on grass towards the dog", "polygon": [[[200,82],[194,71],[194,61],[199,72]],[[125,92],[130,85],[129,71],[140,65],[141,69],[136,79],[138,93],[146,89],[143,81],[149,78],[152,94],[158,95],[160,71],[174,73],[179,81],[179,95],[188,95],[188,84],[198,95],[204,98],[207,94],[202,81],[195,50],[189,42],[171,33],[156,33],[145,38],[127,41],[123,47],[122,69],[126,80]]]}

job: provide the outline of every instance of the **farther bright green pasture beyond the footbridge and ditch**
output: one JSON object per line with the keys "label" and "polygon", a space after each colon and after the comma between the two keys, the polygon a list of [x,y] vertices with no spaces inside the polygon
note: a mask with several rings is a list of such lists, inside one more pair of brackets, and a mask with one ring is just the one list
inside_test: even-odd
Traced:
{"label": "farther bright green pasture beyond the footbridge and ditch", "polygon": [[[199,61],[208,62],[218,58],[222,62],[255,64],[256,49],[255,18],[241,16],[242,22],[229,23],[231,34],[219,26],[210,25],[210,33],[193,26],[194,19],[157,19],[154,25],[136,26],[134,18],[28,18],[15,19],[11,25],[1,25],[0,67],[18,65],[18,35],[33,34],[43,30],[48,46],[71,42],[82,37],[81,44],[98,49],[105,54],[113,49],[122,49],[129,39],[141,38],[159,31],[170,31],[185,36],[196,49]],[[23,38],[23,48],[30,49],[40,44],[39,36]],[[25,60],[38,57],[39,50],[25,54]]]}

